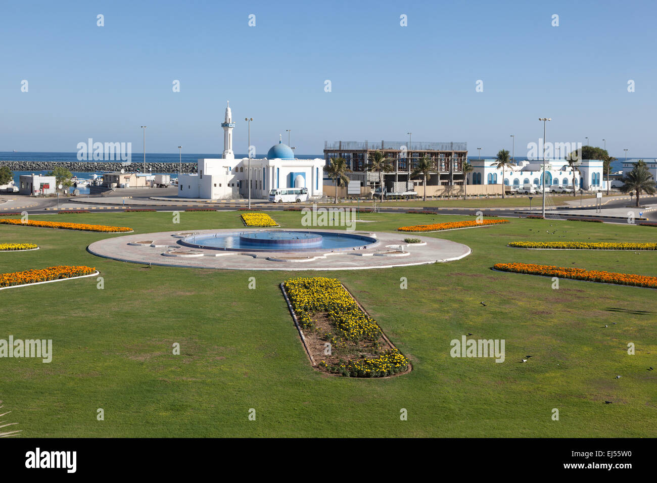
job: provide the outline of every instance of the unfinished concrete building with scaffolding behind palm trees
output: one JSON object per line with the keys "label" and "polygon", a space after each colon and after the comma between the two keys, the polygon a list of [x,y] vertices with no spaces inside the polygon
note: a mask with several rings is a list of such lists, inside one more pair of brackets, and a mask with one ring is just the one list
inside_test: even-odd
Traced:
{"label": "unfinished concrete building with scaffolding behind palm trees", "polygon": [[369,170],[369,159],[381,151],[390,160],[392,170],[384,174],[386,188],[390,191],[396,181],[413,180],[422,184],[422,176],[411,178],[418,160],[428,156],[434,160],[436,171],[427,178],[427,185],[463,185],[463,163],[468,159],[467,143],[404,143],[401,141],[335,141],[324,142],[324,158],[328,163],[334,158],[344,158],[351,170],[350,179],[363,182],[363,186],[378,185],[379,173]]}

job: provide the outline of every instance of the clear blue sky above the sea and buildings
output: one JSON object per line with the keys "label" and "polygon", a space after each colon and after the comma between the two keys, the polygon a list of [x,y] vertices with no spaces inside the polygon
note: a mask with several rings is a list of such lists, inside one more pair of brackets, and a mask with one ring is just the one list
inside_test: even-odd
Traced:
{"label": "clear blue sky above the sea and buildings", "polygon": [[514,134],[524,156],[545,116],[547,141],[605,138],[614,156],[655,157],[656,5],[3,2],[0,150],[72,152],[93,137],[141,152],[146,124],[148,152],[221,153],[230,100],[238,153],[248,116],[258,153],[292,129],[298,154],[411,131],[415,141],[466,141],[471,155],[510,150]]}

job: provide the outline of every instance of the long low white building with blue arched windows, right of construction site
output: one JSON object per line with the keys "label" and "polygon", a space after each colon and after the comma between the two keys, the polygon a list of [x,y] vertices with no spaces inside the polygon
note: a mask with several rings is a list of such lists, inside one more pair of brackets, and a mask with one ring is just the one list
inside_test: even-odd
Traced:
{"label": "long low white building with blue arched windows, right of construction site", "polygon": [[[470,160],[474,170],[468,174],[468,185],[497,185],[504,183],[509,187],[523,185],[542,186],[543,160],[518,161],[504,170],[495,168],[497,160]],[[565,160],[545,160],[545,188],[569,187],[572,189],[573,172]],[[596,191],[606,189],[606,179],[602,173],[601,160],[581,160],[575,170],[576,189]]]}

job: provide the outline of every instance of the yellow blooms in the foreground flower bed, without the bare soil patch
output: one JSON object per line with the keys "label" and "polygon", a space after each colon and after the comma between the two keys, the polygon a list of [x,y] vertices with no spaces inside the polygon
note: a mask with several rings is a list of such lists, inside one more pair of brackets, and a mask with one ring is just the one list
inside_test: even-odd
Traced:
{"label": "yellow blooms in the foreground flower bed, without the bare soil patch", "polygon": [[[285,291],[300,324],[313,329],[313,317],[325,313],[332,322],[334,334],[324,334],[334,348],[367,342],[378,347],[383,331],[369,315],[364,313],[338,279],[313,277],[290,279],[284,282]],[[383,377],[403,372],[409,361],[396,349],[389,349],[372,358],[355,358],[331,365],[325,361],[320,367],[328,372],[351,377]]]}

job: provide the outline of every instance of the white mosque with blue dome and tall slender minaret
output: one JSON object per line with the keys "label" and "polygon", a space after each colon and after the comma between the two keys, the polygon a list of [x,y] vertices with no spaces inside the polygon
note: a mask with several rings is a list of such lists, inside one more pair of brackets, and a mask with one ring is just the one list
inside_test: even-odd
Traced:
{"label": "white mosque with blue dome and tall slender minaret", "polygon": [[[235,159],[233,153],[233,113],[226,107],[221,158],[198,160],[196,174],[178,177],[178,196],[221,200],[248,196],[249,159]],[[267,152],[266,158],[251,158],[251,198],[267,198],[280,188],[306,188],[308,196],[322,196],[325,160],[296,159],[294,152],[281,139]]]}

